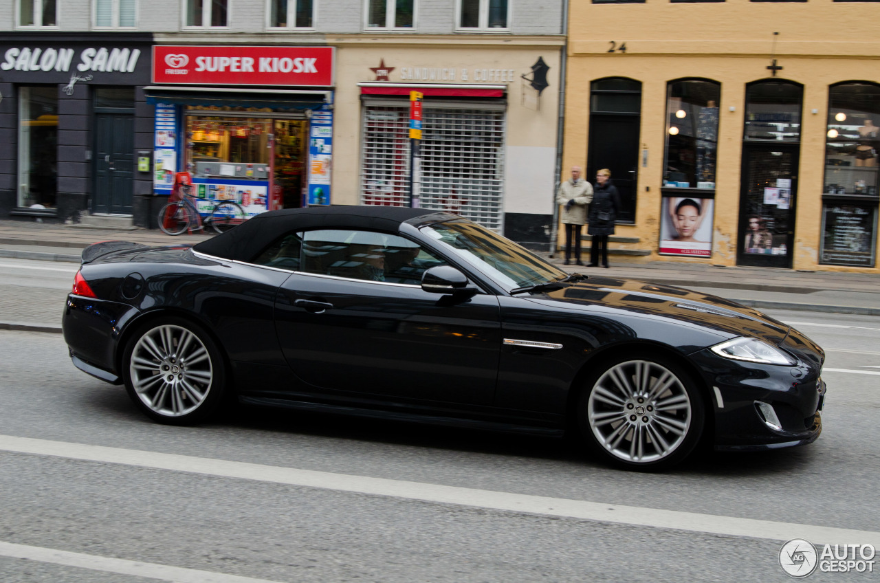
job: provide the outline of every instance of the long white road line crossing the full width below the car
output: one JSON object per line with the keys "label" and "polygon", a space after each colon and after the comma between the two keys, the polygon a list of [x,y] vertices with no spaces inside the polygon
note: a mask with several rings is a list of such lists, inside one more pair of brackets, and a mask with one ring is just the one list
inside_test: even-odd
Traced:
{"label": "long white road line crossing the full width below the car", "polygon": [[119,447],[88,446],[48,439],[0,435],[0,451],[52,455],[83,461],[116,463],[139,468],[166,469],[205,476],[283,483],[307,488],[357,492],[374,496],[407,498],[424,502],[473,506],[514,513],[535,513],[582,520],[598,520],[648,528],[671,528],[715,535],[746,536],[788,541],[873,544],[880,547],[880,532],[821,527],[808,524],[755,520],[715,514],[621,506],[549,498],[501,491],[476,490],[434,483],[404,482],[385,478],[351,476],[308,469],[282,468],[243,461],[226,461],[188,455],[159,454]]}

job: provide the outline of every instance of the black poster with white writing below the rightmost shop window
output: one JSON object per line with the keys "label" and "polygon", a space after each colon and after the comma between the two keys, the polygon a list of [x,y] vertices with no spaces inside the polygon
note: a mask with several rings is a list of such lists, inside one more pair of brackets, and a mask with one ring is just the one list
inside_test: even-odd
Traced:
{"label": "black poster with white writing below the rightmost shop window", "polygon": [[874,267],[876,206],[825,204],[820,262]]}

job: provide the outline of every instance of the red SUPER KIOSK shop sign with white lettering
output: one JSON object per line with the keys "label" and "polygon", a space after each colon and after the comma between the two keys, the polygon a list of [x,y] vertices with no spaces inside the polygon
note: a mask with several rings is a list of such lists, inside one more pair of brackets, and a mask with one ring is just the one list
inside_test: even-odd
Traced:
{"label": "red SUPER KIOSK shop sign with white lettering", "polygon": [[333,47],[153,47],[153,83],[334,84]]}

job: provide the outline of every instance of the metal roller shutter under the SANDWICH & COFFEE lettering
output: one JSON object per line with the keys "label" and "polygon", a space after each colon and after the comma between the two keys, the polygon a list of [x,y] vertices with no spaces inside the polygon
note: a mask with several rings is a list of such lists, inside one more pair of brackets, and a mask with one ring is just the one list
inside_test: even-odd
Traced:
{"label": "metal roller shutter under the SANDWICH & COFFEE lettering", "polygon": [[[426,103],[422,115],[422,208],[450,210],[501,232],[503,107]],[[364,105],[363,204],[408,204],[408,123],[407,106]]]}

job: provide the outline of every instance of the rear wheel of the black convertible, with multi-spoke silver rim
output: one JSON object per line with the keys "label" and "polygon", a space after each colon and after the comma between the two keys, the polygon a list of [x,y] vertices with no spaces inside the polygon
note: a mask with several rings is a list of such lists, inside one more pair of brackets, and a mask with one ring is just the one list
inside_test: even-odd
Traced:
{"label": "rear wheel of the black convertible, with multi-spoke silver rim", "polygon": [[176,317],[138,328],[122,358],[128,396],[147,417],[172,425],[197,424],[216,412],[226,392],[225,368],[204,328]]}

